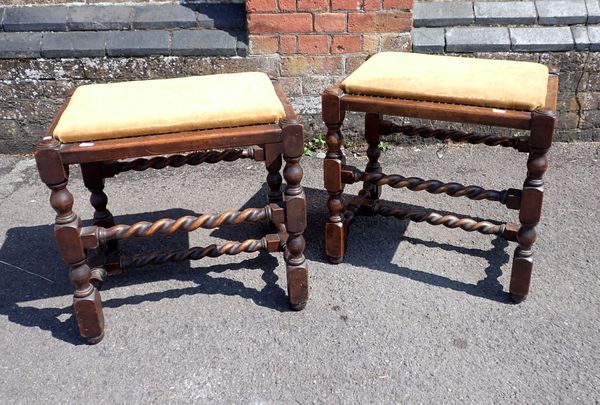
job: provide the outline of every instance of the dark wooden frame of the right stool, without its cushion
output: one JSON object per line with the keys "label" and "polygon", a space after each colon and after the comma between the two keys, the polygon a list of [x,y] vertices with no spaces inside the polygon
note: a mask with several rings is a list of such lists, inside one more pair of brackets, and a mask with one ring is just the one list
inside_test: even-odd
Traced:
{"label": "dark wooden frame of the right stool, without its cushion", "polygon": [[[332,263],[340,263],[346,252],[346,241],[350,224],[356,215],[382,215],[401,220],[427,222],[460,228],[468,232],[499,235],[518,246],[512,263],[510,295],[513,300],[524,300],[529,292],[533,268],[533,243],[536,239],[535,227],[540,221],[544,195],[543,175],[548,168],[546,154],[552,144],[556,121],[556,98],[558,76],[551,73],[548,78],[546,105],[534,111],[502,110],[456,104],[395,98],[373,97],[346,94],[338,84],[323,93],[323,120],[327,125],[327,155],[323,164],[325,188],[329,193],[329,218],[326,224],[325,248]],[[365,139],[368,163],[365,171],[346,165],[342,152],[343,137],[341,127],[346,111],[364,112]],[[480,133],[465,133],[456,130],[396,125],[383,119],[383,114],[414,117],[428,120],[461,122],[529,130],[529,136],[503,137]],[[503,146],[529,154],[527,176],[523,189],[503,191],[485,190],[477,186],[464,186],[459,183],[442,183],[438,180],[423,180],[416,177],[385,175],[378,162],[382,136],[402,133],[408,136],[436,138],[454,142]],[[352,197],[349,204],[343,198],[344,186],[358,181],[363,188],[358,196]],[[511,223],[494,224],[476,221],[469,217],[442,215],[432,210],[403,210],[385,207],[379,201],[381,186],[408,188],[412,191],[425,190],[433,194],[447,194],[452,197],[467,197],[473,200],[498,201],[509,209],[519,210],[520,226]]]}

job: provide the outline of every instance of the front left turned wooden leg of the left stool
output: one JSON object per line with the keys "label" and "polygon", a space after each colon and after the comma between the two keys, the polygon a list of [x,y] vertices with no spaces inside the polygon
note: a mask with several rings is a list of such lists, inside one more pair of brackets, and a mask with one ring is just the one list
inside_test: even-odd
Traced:
{"label": "front left turned wooden leg of the left stool", "polygon": [[35,158],[42,181],[52,190],[50,205],[56,211],[54,235],[63,260],[71,266],[69,278],[75,285],[73,308],[79,333],[90,344],[104,336],[104,315],[98,290],[90,284],[91,271],[80,237],[81,220],[73,212],[73,195],[67,190],[68,168],[63,166],[60,143],[40,143]]}

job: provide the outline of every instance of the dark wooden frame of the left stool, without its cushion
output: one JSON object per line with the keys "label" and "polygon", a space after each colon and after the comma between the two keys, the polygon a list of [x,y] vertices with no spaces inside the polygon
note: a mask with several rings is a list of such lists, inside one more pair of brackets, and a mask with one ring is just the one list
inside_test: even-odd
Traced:
{"label": "dark wooden frame of the left stool, without its cushion", "polygon": [[[303,127],[297,122],[297,115],[279,84],[273,82],[273,85],[286,113],[286,117],[276,124],[61,143],[52,133],[69,103],[72,91],[68,94],[46,136],[37,145],[35,158],[42,181],[52,190],[50,204],[57,213],[54,233],[59,253],[71,268],[69,278],[75,286],[75,317],[79,332],[88,343],[97,343],[104,336],[99,289],[107,275],[147,264],[259,250],[283,251],[290,306],[294,310],[304,308],[308,300],[308,270],[303,236],[306,228],[306,197],[300,185],[303,176],[300,166],[304,149]],[[153,155],[171,156],[143,158]],[[129,158],[137,159],[122,161]],[[163,218],[154,223],[142,221],[133,225],[115,225],[107,209],[108,198],[103,191],[105,178],[128,170],[162,169],[237,159],[265,162],[269,186],[269,203],[265,207],[178,219]],[[283,170],[286,186],[282,192],[280,171],[283,160],[286,162]],[[91,192],[90,202],[95,209],[93,226],[82,227],[80,218],[72,210],[73,195],[67,190],[69,165],[72,164],[81,165],[84,184]],[[120,257],[119,254],[118,241],[130,237],[191,232],[198,228],[212,229],[260,220],[271,221],[274,229],[273,233],[261,239],[248,239],[241,243],[229,241],[221,246],[156,252],[133,258]]]}

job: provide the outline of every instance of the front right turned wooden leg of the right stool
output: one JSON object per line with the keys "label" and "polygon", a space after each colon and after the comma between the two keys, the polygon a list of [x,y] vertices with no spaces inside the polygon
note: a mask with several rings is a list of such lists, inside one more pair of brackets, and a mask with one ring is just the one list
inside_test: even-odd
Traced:
{"label": "front right turned wooden leg of the right stool", "polygon": [[548,169],[546,153],[552,144],[554,123],[555,116],[551,111],[535,110],[532,113],[527,178],[523,185],[519,211],[519,221],[521,222],[517,233],[519,245],[515,249],[510,278],[510,295],[515,302],[523,301],[529,293],[533,269],[533,243],[537,236],[535,227],[540,221],[542,212],[543,176]]}

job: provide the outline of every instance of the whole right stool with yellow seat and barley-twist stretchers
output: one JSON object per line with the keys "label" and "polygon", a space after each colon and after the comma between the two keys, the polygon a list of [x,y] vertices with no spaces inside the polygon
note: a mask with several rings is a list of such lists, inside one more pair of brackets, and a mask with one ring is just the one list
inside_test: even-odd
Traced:
{"label": "whole right stool with yellow seat and barley-twist stretchers", "polygon": [[[546,66],[537,63],[386,52],[371,57],[341,84],[327,89],[323,93],[323,120],[328,128],[324,176],[329,192],[326,224],[329,259],[334,263],[343,260],[348,227],[355,215],[361,213],[499,235],[518,242],[510,294],[515,301],[522,301],[529,291],[535,227],[542,208],[542,177],[548,167],[546,153],[555,125],[557,87],[557,76],[549,75]],[[346,111],[366,113],[369,161],[364,171],[346,165],[341,150],[340,128]],[[522,129],[528,130],[529,136],[504,137],[396,125],[384,120],[384,114]],[[381,136],[393,133],[482,143],[528,153],[523,189],[486,190],[438,180],[385,175],[378,163],[378,144]],[[342,197],[344,185],[358,181],[363,182],[361,192],[346,204]],[[498,224],[441,215],[431,210],[385,207],[378,198],[381,186],[386,184],[412,191],[498,201],[509,209],[519,210],[521,224]]]}

